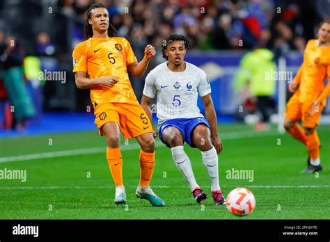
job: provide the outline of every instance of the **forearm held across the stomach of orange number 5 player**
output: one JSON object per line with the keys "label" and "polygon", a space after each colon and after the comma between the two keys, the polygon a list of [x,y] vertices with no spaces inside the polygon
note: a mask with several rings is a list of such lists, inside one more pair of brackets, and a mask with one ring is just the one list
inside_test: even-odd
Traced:
{"label": "forearm held across the stomach of orange number 5 player", "polygon": [[86,77],[86,72],[74,72],[74,79],[79,89],[89,89],[100,84],[112,88],[119,81],[116,77],[112,76],[89,79]]}

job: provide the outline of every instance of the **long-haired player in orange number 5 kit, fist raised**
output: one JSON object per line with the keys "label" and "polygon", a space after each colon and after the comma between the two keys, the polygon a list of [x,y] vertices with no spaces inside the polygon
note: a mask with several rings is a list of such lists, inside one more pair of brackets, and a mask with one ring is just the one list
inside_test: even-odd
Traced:
{"label": "long-haired player in orange number 5 kit, fist raised", "polygon": [[[125,38],[114,37],[116,29],[109,23],[109,13],[102,4],[93,4],[87,11],[84,29],[86,40],[72,53],[77,88],[91,89],[95,124],[100,135],[107,138],[107,160],[116,184],[116,204],[126,201],[123,185],[123,159],[120,152],[120,131],[125,139],[136,138],[141,145],[140,184],[136,196],[153,206],[163,207],[149,183],[155,166],[155,140],[150,120],[134,95],[127,69],[141,77],[148,67],[155,48],[148,45],[145,56],[136,61],[131,45]],[[88,74],[88,78],[86,77]]]}

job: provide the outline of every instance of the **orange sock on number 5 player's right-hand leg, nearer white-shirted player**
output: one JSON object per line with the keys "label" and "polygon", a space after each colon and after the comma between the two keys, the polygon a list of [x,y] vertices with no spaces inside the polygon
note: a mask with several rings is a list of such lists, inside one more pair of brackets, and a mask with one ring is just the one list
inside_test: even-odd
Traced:
{"label": "orange sock on number 5 player's right-hand leg, nearer white-shirted player", "polygon": [[155,167],[155,152],[140,151],[140,186],[149,186]]}

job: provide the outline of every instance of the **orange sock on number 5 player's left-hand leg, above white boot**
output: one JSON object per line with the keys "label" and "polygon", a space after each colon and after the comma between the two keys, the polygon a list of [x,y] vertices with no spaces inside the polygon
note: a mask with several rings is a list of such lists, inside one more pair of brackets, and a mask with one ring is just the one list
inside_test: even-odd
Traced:
{"label": "orange sock on number 5 player's left-hand leg, above white boot", "polygon": [[107,147],[107,160],[116,187],[123,186],[123,158],[121,156],[120,147]]}

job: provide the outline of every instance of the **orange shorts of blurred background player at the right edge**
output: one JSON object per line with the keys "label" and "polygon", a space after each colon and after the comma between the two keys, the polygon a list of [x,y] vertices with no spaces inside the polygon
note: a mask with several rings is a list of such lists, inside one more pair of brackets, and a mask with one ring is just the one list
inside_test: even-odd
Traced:
{"label": "orange shorts of blurred background player at the right edge", "polygon": [[310,102],[301,103],[298,95],[293,95],[286,106],[285,118],[290,118],[290,120],[295,122],[301,120],[303,127],[315,128],[320,122],[323,108],[324,102],[322,102],[317,111],[312,113],[313,107]]}

